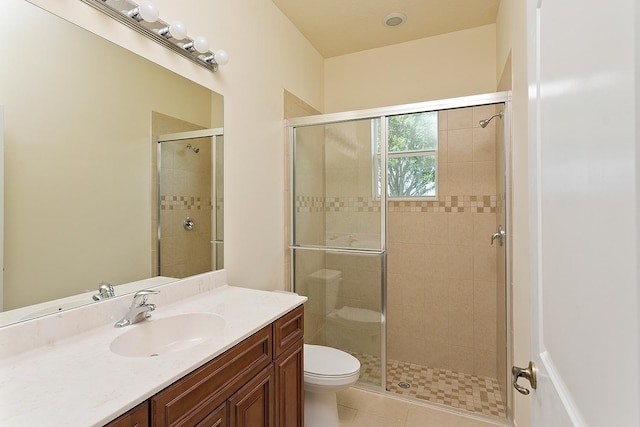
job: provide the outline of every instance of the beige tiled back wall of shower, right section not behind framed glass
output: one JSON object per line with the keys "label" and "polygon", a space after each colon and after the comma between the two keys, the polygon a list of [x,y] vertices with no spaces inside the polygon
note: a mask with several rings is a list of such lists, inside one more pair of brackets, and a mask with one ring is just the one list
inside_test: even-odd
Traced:
{"label": "beige tiled back wall of shower, right section not behind framed glass", "polygon": [[438,201],[389,204],[390,359],[497,377],[494,112],[441,111]]}

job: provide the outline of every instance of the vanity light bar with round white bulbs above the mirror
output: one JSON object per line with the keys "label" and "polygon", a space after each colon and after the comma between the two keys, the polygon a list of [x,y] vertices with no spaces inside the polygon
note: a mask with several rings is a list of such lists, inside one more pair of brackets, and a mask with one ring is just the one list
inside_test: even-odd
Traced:
{"label": "vanity light bar with round white bulbs above the mirror", "polygon": [[187,37],[187,27],[182,22],[168,24],[159,19],[158,8],[149,0],[140,3],[132,0],[81,1],[212,72],[218,71],[218,65],[229,62],[229,55],[224,50],[209,50],[206,38]]}

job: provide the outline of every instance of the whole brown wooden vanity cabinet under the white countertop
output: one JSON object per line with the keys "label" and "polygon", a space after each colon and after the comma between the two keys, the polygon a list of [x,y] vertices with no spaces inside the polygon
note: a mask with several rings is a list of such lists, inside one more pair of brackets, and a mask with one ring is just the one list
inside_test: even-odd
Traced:
{"label": "whole brown wooden vanity cabinet under the white countertop", "polygon": [[302,427],[303,323],[300,306],[107,426]]}

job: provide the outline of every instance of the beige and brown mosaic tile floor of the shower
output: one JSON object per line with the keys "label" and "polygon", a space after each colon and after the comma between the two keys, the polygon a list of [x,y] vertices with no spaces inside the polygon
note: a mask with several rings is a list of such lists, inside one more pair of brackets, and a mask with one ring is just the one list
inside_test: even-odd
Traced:
{"label": "beige and brown mosaic tile floor of the shower", "polygon": [[[360,381],[380,384],[380,358],[359,353],[353,355],[360,360]],[[407,384],[410,387],[406,388]],[[506,417],[500,386],[495,378],[390,360],[387,362],[387,391],[478,414]]]}

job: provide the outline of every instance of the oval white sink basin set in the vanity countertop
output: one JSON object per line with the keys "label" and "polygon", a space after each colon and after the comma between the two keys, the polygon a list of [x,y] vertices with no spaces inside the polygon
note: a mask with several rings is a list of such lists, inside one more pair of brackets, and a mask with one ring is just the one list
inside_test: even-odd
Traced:
{"label": "oval white sink basin set in the vanity countertop", "polygon": [[143,320],[111,342],[111,351],[126,357],[153,357],[186,350],[219,336],[225,320],[213,313],[187,313]]}

